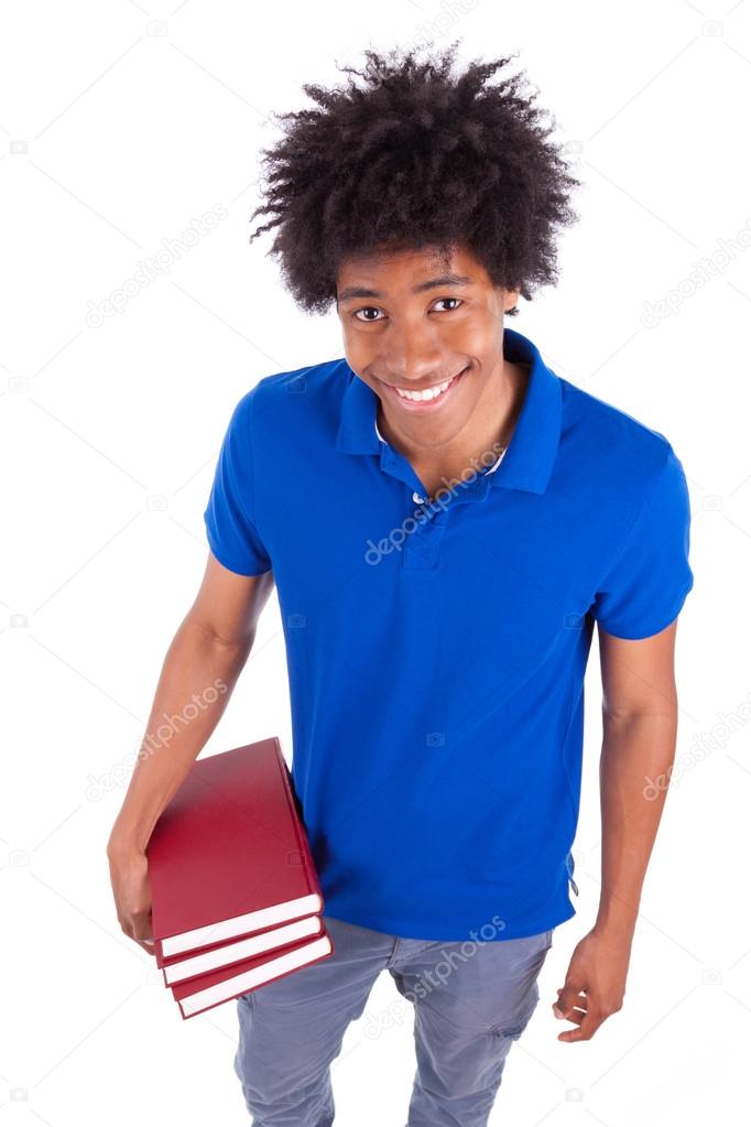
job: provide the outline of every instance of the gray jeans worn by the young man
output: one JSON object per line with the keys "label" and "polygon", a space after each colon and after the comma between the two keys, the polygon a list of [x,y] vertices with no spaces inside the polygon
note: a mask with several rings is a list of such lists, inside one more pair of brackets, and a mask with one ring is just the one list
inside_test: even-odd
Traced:
{"label": "gray jeans worn by the young man", "polygon": [[367,1014],[364,1036],[379,1036],[414,1006],[408,1127],[484,1127],[511,1044],[539,1001],[553,931],[475,943],[401,939],[331,916],[324,923],[333,955],[238,999],[234,1071],[251,1127],[331,1127],[331,1064],[384,969],[406,1002]]}

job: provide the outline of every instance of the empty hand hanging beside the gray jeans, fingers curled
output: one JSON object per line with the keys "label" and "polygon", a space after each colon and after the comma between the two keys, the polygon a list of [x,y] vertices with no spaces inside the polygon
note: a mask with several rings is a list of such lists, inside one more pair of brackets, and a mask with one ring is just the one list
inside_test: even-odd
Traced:
{"label": "empty hand hanging beside the gray jeans, fingers curled", "polygon": [[606,1018],[620,1010],[626,990],[632,935],[593,928],[576,944],[564,986],[553,1004],[556,1018],[578,1029],[558,1033],[560,1041],[588,1041]]}

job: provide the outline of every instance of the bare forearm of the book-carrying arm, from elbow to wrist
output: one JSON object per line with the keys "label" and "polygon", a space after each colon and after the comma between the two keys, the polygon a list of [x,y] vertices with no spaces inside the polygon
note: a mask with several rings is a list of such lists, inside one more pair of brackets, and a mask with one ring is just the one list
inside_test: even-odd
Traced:
{"label": "bare forearm of the book-carrying arm, from elbow to wrist", "polygon": [[160,814],[216,727],[252,640],[227,645],[181,624],[167,651],[146,733],[108,853],[144,850]]}

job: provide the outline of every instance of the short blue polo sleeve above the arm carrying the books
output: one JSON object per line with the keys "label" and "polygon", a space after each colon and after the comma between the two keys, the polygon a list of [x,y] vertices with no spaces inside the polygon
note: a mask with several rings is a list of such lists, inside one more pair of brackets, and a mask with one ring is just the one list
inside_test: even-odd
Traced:
{"label": "short blue polo sleeve above the arm carrying the books", "polygon": [[235,406],[204,512],[206,538],[220,564],[238,575],[269,571],[271,560],[253,523],[252,391]]}

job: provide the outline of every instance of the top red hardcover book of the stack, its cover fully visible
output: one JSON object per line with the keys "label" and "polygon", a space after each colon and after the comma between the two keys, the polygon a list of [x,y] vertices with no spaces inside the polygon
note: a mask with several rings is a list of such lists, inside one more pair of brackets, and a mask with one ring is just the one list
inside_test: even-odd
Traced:
{"label": "top red hardcover book of the stack, its cover fully visible", "polygon": [[196,760],[146,857],[159,967],[323,909],[276,737]]}

